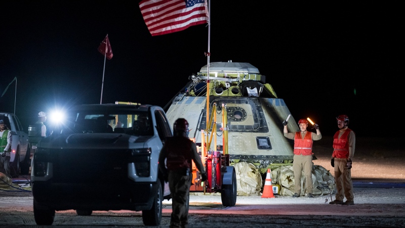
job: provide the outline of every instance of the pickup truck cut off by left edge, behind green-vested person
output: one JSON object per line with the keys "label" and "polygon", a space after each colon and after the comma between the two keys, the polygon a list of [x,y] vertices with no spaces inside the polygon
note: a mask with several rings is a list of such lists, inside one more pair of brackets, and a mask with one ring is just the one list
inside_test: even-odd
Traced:
{"label": "pickup truck cut off by left edge, behind green-vested person", "polygon": [[11,177],[29,174],[31,166],[30,151],[28,149],[28,134],[24,132],[20,120],[11,112],[1,112],[0,120],[4,120],[11,130],[10,174]]}

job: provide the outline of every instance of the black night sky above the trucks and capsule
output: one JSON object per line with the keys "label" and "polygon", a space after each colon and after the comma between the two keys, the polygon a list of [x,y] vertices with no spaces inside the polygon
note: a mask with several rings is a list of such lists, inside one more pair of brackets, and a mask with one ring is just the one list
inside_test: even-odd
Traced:
{"label": "black night sky above the trucks and capsule", "polygon": [[[210,62],[249,62],[296,120],[333,135],[346,114],[357,136],[400,133],[399,2],[211,1]],[[219,3],[220,2],[220,3]],[[165,106],[207,64],[206,25],[151,36],[139,1],[3,1],[0,110],[27,131],[39,111],[132,101]],[[403,70],[401,70],[403,71]]]}

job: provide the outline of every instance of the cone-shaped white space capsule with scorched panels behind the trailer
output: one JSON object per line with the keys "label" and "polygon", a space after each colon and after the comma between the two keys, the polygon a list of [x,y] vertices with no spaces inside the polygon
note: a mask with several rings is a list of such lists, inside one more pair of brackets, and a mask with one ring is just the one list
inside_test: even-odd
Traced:
{"label": "cone-shaped white space capsule with scorched panels behind the trailer", "polygon": [[[251,162],[263,173],[273,163],[291,165],[293,141],[284,137],[282,125],[291,112],[265,75],[246,62],[209,65],[191,75],[167,105],[170,124],[185,118],[189,138],[208,155],[214,151],[229,155],[230,164]],[[292,116],[288,129],[299,129]]]}

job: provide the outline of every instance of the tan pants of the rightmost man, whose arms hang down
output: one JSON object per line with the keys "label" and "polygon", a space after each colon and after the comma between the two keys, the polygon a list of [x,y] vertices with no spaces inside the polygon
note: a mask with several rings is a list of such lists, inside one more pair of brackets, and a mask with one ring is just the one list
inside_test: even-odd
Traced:
{"label": "tan pants of the rightmost man, whose arms hang down", "polygon": [[353,201],[353,182],[350,169],[347,168],[347,159],[335,158],[336,200]]}

